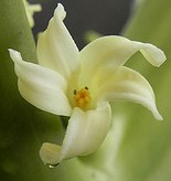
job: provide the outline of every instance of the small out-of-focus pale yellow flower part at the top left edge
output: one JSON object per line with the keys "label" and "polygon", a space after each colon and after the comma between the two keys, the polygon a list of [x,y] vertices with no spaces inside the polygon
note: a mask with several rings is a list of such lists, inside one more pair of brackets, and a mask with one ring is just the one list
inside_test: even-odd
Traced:
{"label": "small out-of-focus pale yellow flower part at the top left edge", "polygon": [[42,7],[40,4],[30,4],[26,0],[23,0],[23,3],[24,3],[24,7],[25,7],[29,24],[30,24],[31,28],[33,28],[34,26],[33,14],[35,12],[41,11]]}

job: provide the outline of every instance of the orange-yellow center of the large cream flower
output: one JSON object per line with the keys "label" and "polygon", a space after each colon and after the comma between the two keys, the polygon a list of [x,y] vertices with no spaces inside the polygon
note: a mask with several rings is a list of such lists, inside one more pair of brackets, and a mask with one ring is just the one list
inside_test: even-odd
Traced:
{"label": "orange-yellow center of the large cream flower", "polygon": [[78,91],[75,89],[74,100],[77,107],[81,107],[82,109],[87,109],[92,100],[88,87],[84,87]]}

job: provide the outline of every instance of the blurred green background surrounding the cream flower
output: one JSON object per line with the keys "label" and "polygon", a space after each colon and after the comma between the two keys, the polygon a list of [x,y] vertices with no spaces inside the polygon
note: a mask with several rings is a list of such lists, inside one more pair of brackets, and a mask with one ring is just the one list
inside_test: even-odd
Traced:
{"label": "blurred green background surrounding the cream flower", "polygon": [[[43,11],[35,15],[34,38],[43,31],[57,1],[38,0]],[[156,68],[137,53],[127,66],[139,71],[152,85],[159,111],[157,121],[146,108],[132,103],[113,104],[114,121],[96,153],[75,158],[50,169],[39,158],[44,141],[61,142],[64,128],[58,117],[26,103],[18,92],[13,63],[7,49],[36,62],[35,45],[21,0],[0,3],[0,180],[2,181],[170,181],[171,180],[171,1],[106,0],[61,1],[66,25],[79,49],[84,34],[124,34],[150,42],[165,52],[168,61]],[[139,4],[139,6],[138,6]],[[20,12],[20,13],[19,13]],[[130,14],[130,15],[129,15]]]}

